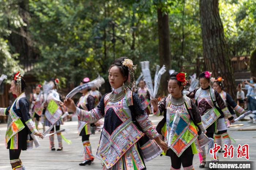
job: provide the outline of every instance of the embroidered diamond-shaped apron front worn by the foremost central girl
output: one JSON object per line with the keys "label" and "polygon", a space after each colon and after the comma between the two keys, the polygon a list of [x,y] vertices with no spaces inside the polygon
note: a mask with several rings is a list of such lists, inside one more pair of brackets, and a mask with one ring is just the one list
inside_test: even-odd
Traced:
{"label": "embroidered diamond-shaped apron front worn by the foremost central girl", "polygon": [[[119,159],[144,135],[131,121],[131,117],[123,109],[123,101],[132,105],[132,92],[127,91],[125,97],[118,102],[109,102],[110,93],[104,98],[105,123],[102,130],[97,155],[104,162],[106,168],[114,166]],[[113,111],[112,111],[113,110]],[[117,118],[118,117],[118,118]],[[118,120],[119,123],[106,124],[106,119]],[[107,127],[106,127],[107,126]],[[112,126],[112,130],[108,126]],[[119,162],[120,163],[120,162]]]}

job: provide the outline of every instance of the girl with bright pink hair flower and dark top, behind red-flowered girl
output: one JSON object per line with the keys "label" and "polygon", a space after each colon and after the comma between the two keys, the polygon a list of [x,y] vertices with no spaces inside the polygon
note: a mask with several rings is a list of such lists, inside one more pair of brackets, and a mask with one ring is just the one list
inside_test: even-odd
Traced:
{"label": "girl with bright pink hair flower and dark top, behind red-flowered girl", "polygon": [[[199,74],[200,88],[191,91],[187,96],[195,100],[196,106],[199,109],[202,117],[202,122],[206,128],[206,135],[209,138],[213,138],[213,134],[217,132],[217,119],[228,118],[231,122],[234,122],[234,118],[229,112],[229,109],[225,106],[221,96],[210,86],[211,72],[204,71]],[[218,105],[218,106],[217,106]],[[204,168],[206,164],[206,151],[202,148],[203,152],[200,153],[200,168]],[[208,149],[209,150],[209,149]],[[212,161],[214,161],[211,156]],[[217,156],[218,160],[218,156]]]}

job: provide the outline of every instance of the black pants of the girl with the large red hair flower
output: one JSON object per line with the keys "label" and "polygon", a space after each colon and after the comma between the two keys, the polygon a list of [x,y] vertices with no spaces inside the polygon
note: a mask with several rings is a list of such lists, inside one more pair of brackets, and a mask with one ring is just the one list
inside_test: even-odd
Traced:
{"label": "black pants of the girl with the large red hair flower", "polygon": [[181,155],[180,157],[178,157],[176,154],[172,154],[172,167],[174,169],[180,169],[181,164],[183,167],[191,166],[193,165],[193,157],[194,155]]}

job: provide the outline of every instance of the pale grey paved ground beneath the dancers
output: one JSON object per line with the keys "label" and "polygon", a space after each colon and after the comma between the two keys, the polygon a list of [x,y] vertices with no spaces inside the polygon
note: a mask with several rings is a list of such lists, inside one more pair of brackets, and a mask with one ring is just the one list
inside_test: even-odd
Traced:
{"label": "pale grey paved ground beneath the dancers", "polygon": [[[162,119],[162,117],[150,116],[154,125]],[[240,128],[256,128],[255,124],[248,124],[247,122],[238,122],[238,124],[243,123],[244,126],[231,127],[229,128],[229,135],[236,141],[234,143],[235,151],[238,144],[249,144],[250,148],[250,160],[256,160],[256,131],[236,131]],[[68,128],[71,131],[68,134],[64,133],[64,136],[72,140],[72,144],[68,145],[63,143],[63,151],[50,151],[49,148],[49,138],[44,140],[39,140],[41,146],[39,148],[34,148],[33,150],[22,151],[20,159],[26,166],[26,170],[100,170],[102,169],[101,161],[95,159],[91,166],[79,166],[78,164],[82,162],[83,156],[81,152],[83,150],[81,137],[77,135],[77,121],[65,122],[61,129]],[[9,152],[5,149],[4,135],[6,131],[6,124],[0,124],[0,170],[11,170]],[[42,131],[42,130],[40,130]],[[55,137],[55,146],[57,146],[57,136]],[[90,141],[93,149],[93,154],[95,155],[98,140],[100,137],[100,132],[96,132],[95,135],[90,136]],[[209,155],[207,155],[207,160],[209,160]],[[236,152],[233,159],[227,159],[221,157],[220,160],[246,160],[237,159]],[[197,155],[194,156],[193,164],[196,170],[199,170],[199,158]],[[147,170],[169,170],[170,169],[170,158],[167,156],[158,156],[157,158],[146,162]]]}

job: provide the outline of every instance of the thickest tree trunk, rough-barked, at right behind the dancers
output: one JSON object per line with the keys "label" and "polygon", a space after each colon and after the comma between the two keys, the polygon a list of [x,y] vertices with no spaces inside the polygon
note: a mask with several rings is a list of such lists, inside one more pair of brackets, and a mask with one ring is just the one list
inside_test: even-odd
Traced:
{"label": "thickest tree trunk, rough-barked, at right behind the dancers", "polygon": [[212,76],[221,76],[225,80],[224,86],[227,92],[235,98],[233,68],[218,5],[218,0],[200,0],[204,61]]}

